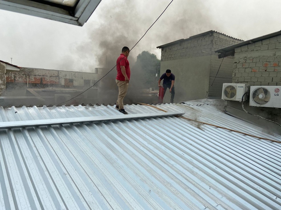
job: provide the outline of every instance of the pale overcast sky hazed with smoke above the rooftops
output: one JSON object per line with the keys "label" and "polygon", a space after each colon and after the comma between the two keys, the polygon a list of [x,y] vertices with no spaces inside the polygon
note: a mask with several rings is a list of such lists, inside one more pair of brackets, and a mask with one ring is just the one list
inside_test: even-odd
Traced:
{"label": "pale overcast sky hazed with smoke above the rooftops", "polygon": [[[81,27],[0,10],[0,60],[21,67],[94,72],[111,69],[171,0],[102,0]],[[161,58],[157,46],[209,30],[249,40],[281,30],[280,0],[174,0],[129,55]],[[12,59],[11,59],[12,57]],[[131,65],[132,66],[132,65]]]}

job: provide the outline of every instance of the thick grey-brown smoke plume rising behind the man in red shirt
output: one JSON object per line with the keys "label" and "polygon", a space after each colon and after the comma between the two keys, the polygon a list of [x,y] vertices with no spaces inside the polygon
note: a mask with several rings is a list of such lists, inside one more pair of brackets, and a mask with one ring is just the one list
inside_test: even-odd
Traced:
{"label": "thick grey-brown smoke plume rising behind the man in red shirt", "polygon": [[[165,4],[163,2],[154,3],[154,7],[149,7],[148,2],[141,4],[133,0],[114,1],[110,5],[106,4],[106,1],[101,1],[93,14],[94,17],[91,18],[91,22],[85,24],[85,27],[87,27],[87,39],[73,46],[76,52],[75,56],[79,54],[79,60],[81,60],[81,57],[84,57],[83,66],[89,70],[94,70],[95,67],[107,68],[109,70],[113,68],[103,80],[107,83],[105,90],[111,89],[115,91],[106,91],[100,94],[105,96],[102,99],[104,103],[115,103],[117,98],[117,86],[115,83],[116,67],[114,66],[116,65],[117,57],[121,53],[121,49],[123,46],[131,49],[169,2],[166,1]],[[197,3],[202,10],[204,5],[200,1],[197,1]],[[140,68],[132,68],[139,53],[149,51],[159,56],[160,49],[156,49],[156,46],[181,38],[188,38],[191,35],[209,30],[210,24],[206,24],[206,21],[203,20],[206,13],[200,13],[201,10],[194,12],[194,8],[192,9],[194,5],[190,6],[190,8],[184,7],[182,9],[179,3],[173,2],[139,44],[131,50],[128,59],[133,79],[130,81],[129,92],[134,92],[134,90],[139,90],[139,87],[142,87],[140,81],[133,76],[134,74],[141,74],[141,72],[135,72]],[[172,12],[175,8],[181,8],[182,10],[175,15]],[[95,18],[99,18],[99,21],[95,21]],[[194,18],[197,20],[196,24],[193,21]],[[191,22],[193,23],[191,24]],[[75,58],[71,60],[75,60]],[[87,60],[86,63],[85,60]],[[73,61],[71,65],[75,65],[74,63]],[[65,67],[65,65],[69,65],[69,62],[67,64],[63,63],[62,67]],[[127,102],[134,102],[128,97],[126,97]]]}

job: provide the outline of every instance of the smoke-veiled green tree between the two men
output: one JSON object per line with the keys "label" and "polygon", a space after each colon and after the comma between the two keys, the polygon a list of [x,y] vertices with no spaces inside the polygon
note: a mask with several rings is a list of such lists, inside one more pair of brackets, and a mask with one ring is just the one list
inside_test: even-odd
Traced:
{"label": "smoke-veiled green tree between the two men", "polygon": [[160,60],[155,54],[142,51],[137,56],[137,61],[132,69],[134,77],[139,81],[140,88],[157,87],[157,81],[160,77]]}

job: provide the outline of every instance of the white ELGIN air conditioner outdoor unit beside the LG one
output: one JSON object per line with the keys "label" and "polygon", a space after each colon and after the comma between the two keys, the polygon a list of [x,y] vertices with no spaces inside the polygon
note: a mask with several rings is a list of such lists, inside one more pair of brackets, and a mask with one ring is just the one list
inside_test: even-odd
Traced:
{"label": "white ELGIN air conditioner outdoor unit beside the LG one", "polygon": [[[242,101],[242,96],[249,90],[248,84],[238,83],[223,83],[222,85],[222,99]],[[246,94],[244,95],[243,101],[246,100]]]}

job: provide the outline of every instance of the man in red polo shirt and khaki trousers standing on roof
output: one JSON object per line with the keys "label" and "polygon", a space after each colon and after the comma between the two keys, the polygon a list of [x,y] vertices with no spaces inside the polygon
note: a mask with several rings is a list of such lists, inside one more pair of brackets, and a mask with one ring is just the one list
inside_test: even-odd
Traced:
{"label": "man in red polo shirt and khaki trousers standing on roof", "polygon": [[117,58],[117,76],[116,83],[119,89],[118,99],[116,102],[116,109],[123,114],[128,114],[124,109],[123,99],[127,94],[127,90],[129,87],[129,80],[131,76],[130,64],[127,57],[130,54],[130,50],[128,47],[122,48],[122,53]]}

